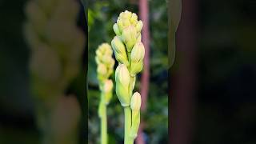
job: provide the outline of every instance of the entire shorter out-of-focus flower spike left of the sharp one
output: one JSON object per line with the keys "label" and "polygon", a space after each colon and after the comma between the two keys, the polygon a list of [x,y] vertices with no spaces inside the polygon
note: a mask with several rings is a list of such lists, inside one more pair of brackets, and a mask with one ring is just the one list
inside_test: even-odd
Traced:
{"label": "entire shorter out-of-focus flower spike left of the sharp one", "polygon": [[110,74],[113,73],[114,58],[112,58],[113,51],[111,46],[103,43],[98,46],[96,50],[95,61],[98,65],[97,75],[99,88],[101,90],[101,100],[98,106],[98,116],[101,118],[101,143],[107,143],[107,119],[106,119],[106,106],[112,98],[113,82],[108,79]]}

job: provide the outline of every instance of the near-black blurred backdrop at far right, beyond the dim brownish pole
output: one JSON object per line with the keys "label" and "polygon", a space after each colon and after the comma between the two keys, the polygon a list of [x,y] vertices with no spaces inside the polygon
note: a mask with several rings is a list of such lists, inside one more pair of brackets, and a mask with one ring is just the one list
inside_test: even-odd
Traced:
{"label": "near-black blurred backdrop at far right, beyond the dim brownish pole", "polygon": [[195,144],[256,143],[256,2],[198,1]]}

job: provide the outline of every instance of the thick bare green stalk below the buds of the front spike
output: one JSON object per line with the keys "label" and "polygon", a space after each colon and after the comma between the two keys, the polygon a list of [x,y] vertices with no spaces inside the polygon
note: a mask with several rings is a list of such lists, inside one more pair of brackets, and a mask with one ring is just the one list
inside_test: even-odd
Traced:
{"label": "thick bare green stalk below the buds of the front spike", "polygon": [[130,144],[130,127],[131,127],[131,110],[130,106],[124,107],[125,110],[125,142],[124,144]]}

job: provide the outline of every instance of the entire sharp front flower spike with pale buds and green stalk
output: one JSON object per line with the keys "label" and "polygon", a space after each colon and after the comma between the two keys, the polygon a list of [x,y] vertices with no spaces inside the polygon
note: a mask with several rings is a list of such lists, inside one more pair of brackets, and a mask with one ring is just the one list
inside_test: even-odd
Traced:
{"label": "entire sharp front flower spike with pale buds and green stalk", "polygon": [[140,123],[141,95],[138,92],[133,94],[133,90],[136,74],[142,70],[145,54],[141,42],[142,26],[137,14],[127,10],[119,14],[113,26],[116,36],[111,46],[118,61],[115,71],[115,91],[125,112],[125,144],[134,143]]}

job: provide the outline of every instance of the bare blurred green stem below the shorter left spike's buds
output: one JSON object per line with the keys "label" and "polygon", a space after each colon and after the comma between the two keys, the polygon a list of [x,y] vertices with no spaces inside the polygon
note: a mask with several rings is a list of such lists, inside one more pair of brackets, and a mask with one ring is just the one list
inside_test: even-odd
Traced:
{"label": "bare blurred green stem below the shorter left spike's buds", "polygon": [[102,103],[102,117],[101,117],[101,140],[102,144],[107,143],[107,125],[106,125],[106,105]]}

